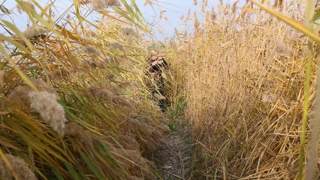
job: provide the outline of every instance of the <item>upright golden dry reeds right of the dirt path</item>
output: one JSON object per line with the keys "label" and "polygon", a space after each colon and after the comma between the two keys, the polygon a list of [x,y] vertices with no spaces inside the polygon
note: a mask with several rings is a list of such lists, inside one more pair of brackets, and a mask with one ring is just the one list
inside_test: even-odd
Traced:
{"label": "upright golden dry reeds right of the dirt path", "polygon": [[[302,2],[275,3],[282,14],[303,21]],[[186,98],[195,144],[190,172],[195,179],[298,177],[308,40],[252,7],[221,3],[217,11],[202,12],[203,24],[193,17],[188,35],[180,33],[170,45],[178,77],[171,80]],[[308,114],[318,44],[312,48]],[[306,150],[311,120],[308,115]]]}

